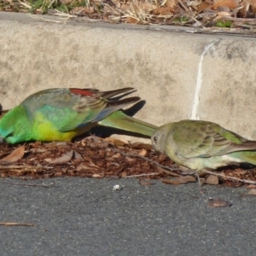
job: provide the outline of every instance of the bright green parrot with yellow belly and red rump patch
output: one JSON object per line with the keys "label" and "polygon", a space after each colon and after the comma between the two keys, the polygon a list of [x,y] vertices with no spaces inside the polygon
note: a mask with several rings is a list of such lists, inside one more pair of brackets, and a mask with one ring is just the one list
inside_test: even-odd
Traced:
{"label": "bright green parrot with yellow belly and red rump patch", "polygon": [[71,141],[94,125],[137,132],[150,137],[157,126],[125,115],[119,109],[139,97],[114,100],[113,96],[133,88],[100,91],[96,89],[55,88],[28,96],[0,119],[0,142]]}

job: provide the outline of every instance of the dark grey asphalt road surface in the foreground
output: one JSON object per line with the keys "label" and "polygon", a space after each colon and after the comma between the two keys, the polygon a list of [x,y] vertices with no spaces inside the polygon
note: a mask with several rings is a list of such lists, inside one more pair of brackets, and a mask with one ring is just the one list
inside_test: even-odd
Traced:
{"label": "dark grey asphalt road surface in the foreground", "polygon": [[[2,180],[7,181],[7,180]],[[247,189],[62,177],[0,183],[1,255],[255,255],[256,196]],[[113,191],[119,184],[122,190]],[[202,191],[204,193],[202,193]],[[231,207],[208,207],[208,198]]]}

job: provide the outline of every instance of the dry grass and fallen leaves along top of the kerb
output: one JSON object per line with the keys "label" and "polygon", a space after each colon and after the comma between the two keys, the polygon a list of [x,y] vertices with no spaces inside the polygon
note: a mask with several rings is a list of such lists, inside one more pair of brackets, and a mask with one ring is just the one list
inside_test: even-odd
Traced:
{"label": "dry grass and fallen leaves along top of the kerb", "polygon": [[87,16],[111,23],[250,30],[256,24],[256,0],[0,0],[0,10],[32,15],[54,12],[64,21]]}

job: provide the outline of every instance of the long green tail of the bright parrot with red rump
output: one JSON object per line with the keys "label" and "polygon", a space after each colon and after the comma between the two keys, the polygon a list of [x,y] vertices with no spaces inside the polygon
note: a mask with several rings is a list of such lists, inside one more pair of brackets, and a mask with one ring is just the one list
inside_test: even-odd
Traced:
{"label": "long green tail of the bright parrot with red rump", "polygon": [[116,111],[98,122],[99,125],[131,131],[151,137],[158,128],[139,119],[132,118],[122,111]]}

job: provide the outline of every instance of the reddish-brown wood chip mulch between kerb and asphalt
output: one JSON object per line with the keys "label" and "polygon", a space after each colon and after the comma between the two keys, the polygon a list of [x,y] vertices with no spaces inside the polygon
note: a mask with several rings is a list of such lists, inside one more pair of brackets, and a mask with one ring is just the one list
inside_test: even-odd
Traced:
{"label": "reddish-brown wood chip mulch between kerb and asphalt", "polygon": [[[170,168],[174,170],[170,171]],[[195,173],[183,168],[175,171],[175,168],[177,166],[173,165],[172,160],[165,154],[154,152],[150,144],[128,143],[111,137],[102,139],[90,136],[75,143],[0,145],[0,174],[3,178],[137,177],[142,185],[151,185],[154,179],[167,184],[197,182]],[[247,179],[252,183],[247,185],[226,177],[214,178],[206,173],[201,175],[201,183],[230,187],[246,185],[256,189],[255,169],[236,166],[214,173]]]}

